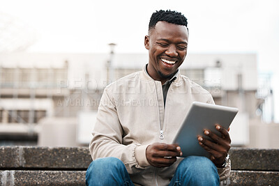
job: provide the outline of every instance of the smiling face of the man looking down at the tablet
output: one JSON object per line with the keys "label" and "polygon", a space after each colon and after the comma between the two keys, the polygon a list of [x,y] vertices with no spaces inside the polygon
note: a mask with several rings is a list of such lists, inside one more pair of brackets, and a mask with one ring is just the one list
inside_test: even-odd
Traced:
{"label": "smiling face of the man looking down at the tablet", "polygon": [[149,50],[149,75],[163,84],[174,75],[187,54],[188,31],[186,26],[158,22],[145,36],[144,45]]}

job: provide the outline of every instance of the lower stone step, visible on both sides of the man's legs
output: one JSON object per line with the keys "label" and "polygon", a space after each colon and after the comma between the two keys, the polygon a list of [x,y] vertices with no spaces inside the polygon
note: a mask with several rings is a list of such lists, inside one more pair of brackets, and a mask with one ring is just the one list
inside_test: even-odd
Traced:
{"label": "lower stone step, visible on both sides of the man's legs", "polygon": [[[86,171],[0,171],[2,186],[85,185]],[[279,173],[232,171],[230,185],[279,185]]]}

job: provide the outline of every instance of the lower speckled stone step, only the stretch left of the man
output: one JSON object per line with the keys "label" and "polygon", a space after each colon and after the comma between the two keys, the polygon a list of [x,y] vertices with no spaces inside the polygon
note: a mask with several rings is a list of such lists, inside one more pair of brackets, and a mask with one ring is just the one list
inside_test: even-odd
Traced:
{"label": "lower speckled stone step, only the stretch left of the man", "polygon": [[0,171],[0,183],[14,185],[85,185],[86,171]]}

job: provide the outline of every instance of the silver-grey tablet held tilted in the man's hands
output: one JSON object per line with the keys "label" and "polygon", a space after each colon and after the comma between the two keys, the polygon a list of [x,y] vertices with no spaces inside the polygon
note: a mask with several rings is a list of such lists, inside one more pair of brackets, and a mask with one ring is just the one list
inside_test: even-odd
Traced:
{"label": "silver-grey tablet held tilted in the man's hands", "polygon": [[204,129],[208,129],[221,137],[215,124],[218,123],[228,129],[238,111],[239,109],[233,107],[193,102],[172,144],[181,147],[182,157],[189,155],[210,157],[210,154],[199,145],[197,136],[209,139],[204,135]]}

